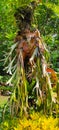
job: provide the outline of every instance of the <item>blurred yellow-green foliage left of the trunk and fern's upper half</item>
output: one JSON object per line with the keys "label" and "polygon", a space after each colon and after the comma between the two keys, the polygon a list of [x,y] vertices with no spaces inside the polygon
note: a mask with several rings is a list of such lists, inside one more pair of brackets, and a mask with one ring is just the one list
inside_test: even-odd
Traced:
{"label": "blurred yellow-green foliage left of the trunk and fern's upper half", "polygon": [[3,70],[3,59],[9,47],[13,44],[16,31],[14,20],[14,5],[12,1],[0,1],[0,73]]}

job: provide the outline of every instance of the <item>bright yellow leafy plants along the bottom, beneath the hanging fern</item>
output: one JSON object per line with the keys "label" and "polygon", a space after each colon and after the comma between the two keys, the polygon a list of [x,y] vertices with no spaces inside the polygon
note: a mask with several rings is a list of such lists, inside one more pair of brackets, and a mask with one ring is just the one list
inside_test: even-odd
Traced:
{"label": "bright yellow leafy plants along the bottom, beneath the hanging fern", "polygon": [[[14,127],[14,130],[59,130],[58,119],[53,118],[52,116],[46,118],[39,113],[33,112],[30,115],[31,119],[24,117],[17,121],[17,128]],[[8,122],[4,122],[4,128],[9,129]]]}

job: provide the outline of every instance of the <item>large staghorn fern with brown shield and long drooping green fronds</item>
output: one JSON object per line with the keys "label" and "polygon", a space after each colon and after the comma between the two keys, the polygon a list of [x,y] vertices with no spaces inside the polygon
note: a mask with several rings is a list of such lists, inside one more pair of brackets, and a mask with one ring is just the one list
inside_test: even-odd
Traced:
{"label": "large staghorn fern with brown shield and long drooping green fronds", "polygon": [[[24,5],[22,2],[24,2],[24,0],[19,1],[19,4],[20,6],[22,4],[22,6],[24,7],[24,5],[26,5],[27,3],[29,4],[31,1],[26,1],[27,3],[25,2]],[[25,8],[23,10],[23,7],[21,8],[22,11],[25,10]],[[18,13],[20,12],[16,12],[18,18]],[[23,14],[21,15],[21,17],[23,17]],[[21,19],[16,20],[20,21]],[[27,23],[26,19],[25,23]],[[50,112],[52,112],[52,104],[53,102],[55,102],[55,98],[53,96],[53,89],[51,86],[50,77],[48,75],[48,72],[46,71],[48,64],[45,56],[48,54],[48,51],[44,43],[42,43],[42,39],[38,30],[31,31],[30,28],[28,29],[28,26],[26,26],[27,28],[25,28],[22,22],[20,22],[20,24],[22,24],[24,29],[22,30],[21,28],[19,28],[21,29],[21,31],[20,34],[18,32],[16,37],[18,38],[19,36],[20,38],[16,41],[14,45],[11,46],[11,50],[5,60],[5,63],[9,62],[10,56],[12,57],[10,60],[10,64],[7,66],[7,68],[5,68],[7,69],[8,73],[12,74],[7,84],[13,83],[14,85],[14,92],[10,97],[10,113],[12,116],[14,116],[15,114],[17,115],[20,111],[20,116],[22,116],[23,113],[28,116],[27,109],[30,109],[28,96],[32,96],[28,95],[28,82],[29,84],[31,84],[32,79],[35,80],[36,84],[32,88],[32,93],[35,93],[34,99],[36,99],[36,102],[39,102],[40,99],[41,104],[43,104],[43,110],[45,113],[47,113],[49,102],[49,109]],[[31,25],[29,24],[29,26]],[[48,57],[49,55],[47,55],[47,59]],[[38,105],[40,106],[41,104]]]}

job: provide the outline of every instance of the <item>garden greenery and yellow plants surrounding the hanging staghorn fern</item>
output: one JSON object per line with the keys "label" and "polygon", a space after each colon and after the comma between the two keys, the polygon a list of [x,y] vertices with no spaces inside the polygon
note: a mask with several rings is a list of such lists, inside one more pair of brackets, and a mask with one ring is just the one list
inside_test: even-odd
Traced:
{"label": "garden greenery and yellow plants surrounding the hanging staghorn fern", "polygon": [[[47,62],[49,62],[50,67],[57,75],[58,80],[55,79],[57,83],[53,86],[53,91],[57,95],[58,102],[53,104],[54,109],[51,110],[51,113],[49,112],[50,104],[48,104],[48,112],[43,112],[40,100],[39,103],[36,101],[33,103],[33,106],[30,105],[28,117],[24,115],[20,117],[19,113],[18,115],[11,116],[9,112],[8,101],[14,91],[14,87],[12,84],[8,84],[12,74],[6,71],[6,65],[8,66],[10,61],[10,59],[8,61],[8,52],[13,49],[12,45],[14,45],[14,39],[18,31],[14,14],[17,8],[29,6],[32,1],[0,0],[0,130],[59,129],[59,0],[39,0],[34,11],[32,23],[32,29],[38,28],[40,31],[41,38],[48,49],[48,54],[45,55]],[[13,52],[14,55],[15,52]],[[31,96],[33,96],[33,84],[35,84],[34,80],[28,88],[29,95]],[[50,91],[48,92],[50,94]],[[49,95],[48,98],[50,98]],[[35,108],[35,103],[37,108]]]}

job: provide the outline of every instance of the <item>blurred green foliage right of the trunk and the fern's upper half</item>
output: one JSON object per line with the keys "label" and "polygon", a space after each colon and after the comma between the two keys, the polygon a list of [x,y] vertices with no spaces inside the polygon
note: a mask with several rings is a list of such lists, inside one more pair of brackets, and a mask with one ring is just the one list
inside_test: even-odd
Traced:
{"label": "blurred green foliage right of the trunk and the fern's upper half", "polygon": [[52,68],[59,72],[59,6],[53,3],[40,4],[34,16],[35,24],[50,51]]}

